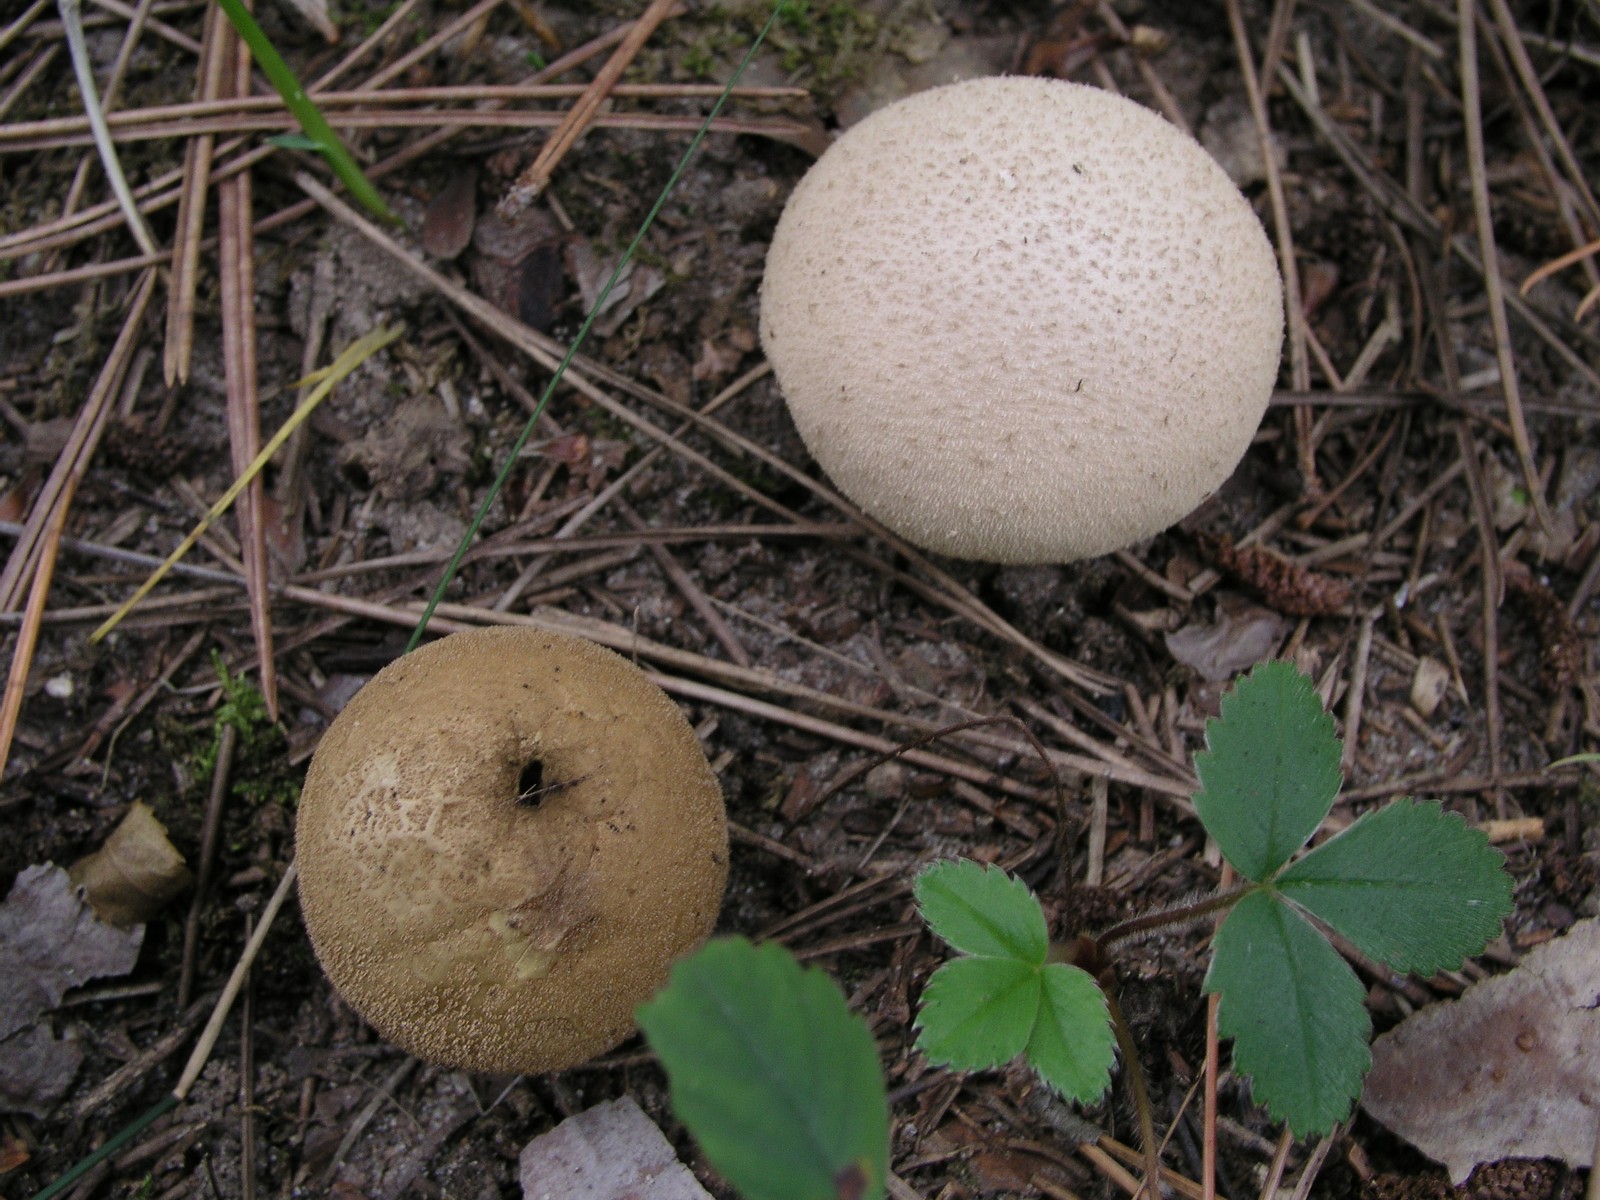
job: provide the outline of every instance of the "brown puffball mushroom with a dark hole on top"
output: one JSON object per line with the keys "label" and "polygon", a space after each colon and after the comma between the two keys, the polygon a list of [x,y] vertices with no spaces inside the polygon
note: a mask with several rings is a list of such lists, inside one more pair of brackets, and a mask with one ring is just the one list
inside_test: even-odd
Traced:
{"label": "brown puffball mushroom with a dark hole on top", "polygon": [[379,670],[312,758],[294,850],[339,994],[419,1058],[501,1074],[627,1037],[728,882],[722,789],[678,707],[534,629]]}

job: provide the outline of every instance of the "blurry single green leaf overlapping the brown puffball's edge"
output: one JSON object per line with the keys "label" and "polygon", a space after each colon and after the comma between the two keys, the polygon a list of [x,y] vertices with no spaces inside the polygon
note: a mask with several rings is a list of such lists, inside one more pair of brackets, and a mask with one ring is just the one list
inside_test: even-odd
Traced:
{"label": "blurry single green leaf overlapping the brown puffball's edge", "polygon": [[781,946],[707,942],[638,1008],[672,1109],[747,1200],[883,1195],[877,1045],[822,971]]}

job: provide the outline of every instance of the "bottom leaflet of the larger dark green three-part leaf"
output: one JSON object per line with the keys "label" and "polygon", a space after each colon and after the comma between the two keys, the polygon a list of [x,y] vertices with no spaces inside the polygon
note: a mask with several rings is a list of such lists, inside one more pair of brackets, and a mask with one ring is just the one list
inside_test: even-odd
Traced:
{"label": "bottom leaflet of the larger dark green three-part leaf", "polygon": [[1362,981],[1310,922],[1251,891],[1216,931],[1205,990],[1221,994],[1218,1032],[1277,1120],[1306,1138],[1350,1114],[1373,1022]]}

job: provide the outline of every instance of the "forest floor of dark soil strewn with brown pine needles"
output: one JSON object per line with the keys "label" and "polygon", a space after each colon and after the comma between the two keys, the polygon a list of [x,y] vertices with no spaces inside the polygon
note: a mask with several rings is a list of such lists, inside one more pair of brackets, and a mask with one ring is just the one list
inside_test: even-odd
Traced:
{"label": "forest floor of dark soil strewn with brown pine needles", "polygon": [[[334,123],[378,165],[400,226],[307,198],[298,174],[328,179],[325,165],[261,152],[288,131],[277,109],[157,110],[198,94],[202,3],[141,6],[136,38],[133,10],[91,3],[90,56],[102,91],[120,74],[109,109],[150,254],[78,120],[54,10],[11,3],[0,35],[0,885],[96,850],[134,802],[198,878],[149,918],[131,970],[74,979],[34,1027],[34,1058],[18,1058],[27,1030],[11,1038],[5,1197],[50,1184],[178,1082],[290,866],[322,731],[402,653],[552,355],[712,102],[714,88],[667,85],[723,82],[766,16],[758,0],[669,14],[621,77],[635,91],[611,96],[506,221],[496,203],[574,96],[429,90],[533,72],[586,85],[646,5],[406,0],[341,14],[338,45],[262,8],[302,80],[344,64],[318,90],[365,90],[326,107],[350,114]],[[582,632],[682,702],[728,803],[718,930],[781,941],[869,1021],[898,1197],[1125,1194],[1115,1155],[1138,1133],[1120,1085],[1069,1114],[1022,1069],[954,1074],[915,1050],[914,1005],[946,949],[909,880],[941,856],[1008,862],[1061,934],[1214,888],[1192,755],[1227,680],[1264,658],[1296,662],[1339,720],[1336,821],[1438,798],[1490,830],[1517,882],[1504,938],[1462,971],[1362,968],[1379,1030],[1600,912],[1592,768],[1550,766],[1600,750],[1600,306],[1579,315],[1600,286],[1600,11],[1485,0],[1464,78],[1443,0],[1242,10],[1248,72],[1221,2],[813,0],[781,21],[432,622]],[[757,338],[766,243],[832,131],[931,83],[1018,70],[1115,86],[1195,131],[1288,253],[1302,317],[1234,478],[1179,526],[1067,566],[936,560],[869,536],[813,486]],[[208,133],[213,198],[186,272],[182,254],[168,266],[194,242],[176,198]],[[182,278],[190,312],[168,315]],[[285,422],[296,381],[395,322],[400,339],[274,461],[250,528],[211,525],[91,642],[229,488],[240,448]],[[850,774],[982,715],[1043,742],[1062,805],[1005,730]],[[1178,1190],[1198,1195],[1214,1138],[1232,1200],[1445,1195],[1445,1173],[1363,1110],[1296,1142],[1230,1072],[1203,1128],[1206,939],[1155,938],[1120,963]],[[642,1042],[510,1080],[418,1062],[338,1000],[291,901],[195,1088],[69,1194],[520,1195],[522,1147],[621,1094],[726,1194]],[[1554,1200],[1584,1178],[1512,1163],[1467,1190]]]}

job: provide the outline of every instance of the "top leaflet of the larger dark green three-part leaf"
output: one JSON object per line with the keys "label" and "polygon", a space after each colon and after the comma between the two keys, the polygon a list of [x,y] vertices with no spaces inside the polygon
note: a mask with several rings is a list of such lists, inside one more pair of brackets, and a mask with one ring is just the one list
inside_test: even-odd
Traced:
{"label": "top leaflet of the larger dark green three-part leaf", "polygon": [[1306,845],[1339,794],[1333,718],[1288,662],[1262,662],[1222,696],[1195,755],[1195,811],[1245,878],[1266,880]]}

